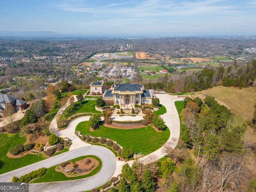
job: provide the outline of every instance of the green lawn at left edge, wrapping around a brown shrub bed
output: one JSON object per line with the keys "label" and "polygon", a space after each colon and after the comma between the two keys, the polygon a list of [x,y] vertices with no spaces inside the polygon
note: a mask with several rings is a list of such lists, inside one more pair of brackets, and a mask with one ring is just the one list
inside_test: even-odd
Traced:
{"label": "green lawn at left edge, wrapping around a brown shrub bed", "polygon": [[20,137],[16,134],[0,134],[0,174],[30,165],[32,163],[44,160],[45,157],[40,154],[27,154],[21,158],[9,158],[6,154],[15,145],[24,144],[26,137]]}

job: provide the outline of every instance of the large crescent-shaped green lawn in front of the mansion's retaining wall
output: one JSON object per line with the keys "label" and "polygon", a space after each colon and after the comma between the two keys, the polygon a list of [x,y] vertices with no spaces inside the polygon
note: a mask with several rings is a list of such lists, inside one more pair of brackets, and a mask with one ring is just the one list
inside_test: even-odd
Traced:
{"label": "large crescent-shaped green lawn in front of the mansion's retaining wall", "polygon": [[76,131],[82,134],[87,133],[91,136],[105,137],[118,142],[122,147],[132,148],[134,152],[149,154],[160,148],[170,136],[170,131],[167,128],[163,132],[156,132],[152,125],[144,128],[135,129],[116,129],[105,126],[100,126],[99,129],[90,131],[88,121],[80,122],[76,126]]}

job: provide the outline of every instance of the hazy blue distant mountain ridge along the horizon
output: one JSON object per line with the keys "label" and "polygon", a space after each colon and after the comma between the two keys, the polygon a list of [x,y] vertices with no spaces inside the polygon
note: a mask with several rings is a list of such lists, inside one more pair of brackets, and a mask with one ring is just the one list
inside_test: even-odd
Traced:
{"label": "hazy blue distant mountain ridge along the horizon", "polygon": [[213,34],[171,34],[171,33],[148,33],[148,34],[106,34],[106,33],[56,33],[52,31],[0,31],[0,38],[162,38],[162,37],[204,37],[226,38],[242,37],[235,35]]}

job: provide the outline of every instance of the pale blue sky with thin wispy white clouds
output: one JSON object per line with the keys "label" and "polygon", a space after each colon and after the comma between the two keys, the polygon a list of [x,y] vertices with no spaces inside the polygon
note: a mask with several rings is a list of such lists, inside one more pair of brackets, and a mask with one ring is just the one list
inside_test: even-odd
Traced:
{"label": "pale blue sky with thin wispy white clouds", "polygon": [[255,0],[0,0],[0,31],[256,35]]}

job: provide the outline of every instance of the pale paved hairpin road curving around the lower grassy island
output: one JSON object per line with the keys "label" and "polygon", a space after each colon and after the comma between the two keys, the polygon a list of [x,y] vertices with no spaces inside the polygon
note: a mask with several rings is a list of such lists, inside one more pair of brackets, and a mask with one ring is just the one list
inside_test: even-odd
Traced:
{"label": "pale paved hairpin road curving around the lower grassy island", "polygon": [[31,164],[29,166],[22,167],[20,169],[1,174],[0,181],[1,182],[10,182],[12,180],[12,176],[22,176],[27,174],[33,170],[38,170],[42,167],[52,167],[67,160],[74,159],[76,157],[84,156],[84,155],[95,155],[98,156],[102,160],[102,169],[96,175],[73,181],[66,182],[51,182],[51,183],[40,183],[40,184],[29,184],[30,192],[80,192],[91,190],[92,188],[96,188],[105,184],[114,174],[116,170],[116,157],[114,154],[101,146],[85,146],[78,148],[76,150],[72,150],[69,152],[65,152],[59,154],[57,156],[48,158],[46,160],[42,160],[40,162]]}

